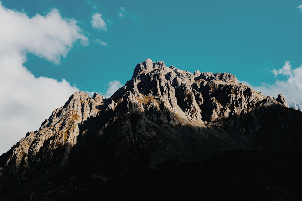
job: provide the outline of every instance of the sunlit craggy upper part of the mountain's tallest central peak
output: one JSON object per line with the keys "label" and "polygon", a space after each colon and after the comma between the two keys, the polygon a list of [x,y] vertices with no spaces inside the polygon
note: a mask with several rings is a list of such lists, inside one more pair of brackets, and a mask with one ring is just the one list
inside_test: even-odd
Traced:
{"label": "sunlit craggy upper part of the mountain's tallest central peak", "polygon": [[[266,98],[249,86],[239,84],[233,74],[200,71],[192,74],[174,66],[167,68],[163,61],[154,63],[151,59],[137,64],[132,80],[117,94],[127,91],[135,97],[130,100],[139,110],[160,110],[163,104],[172,111],[173,117],[180,115],[186,119],[181,124],[245,114]],[[272,104],[277,102],[272,99]]]}

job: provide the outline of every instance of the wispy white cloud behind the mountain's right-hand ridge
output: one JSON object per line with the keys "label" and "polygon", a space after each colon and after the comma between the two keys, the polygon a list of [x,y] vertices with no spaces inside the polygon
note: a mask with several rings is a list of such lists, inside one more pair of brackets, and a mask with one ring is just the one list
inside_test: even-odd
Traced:
{"label": "wispy white cloud behind the mountain's right-hand ridge", "polygon": [[289,61],[285,61],[281,69],[274,69],[275,77],[278,75],[286,76],[285,80],[276,80],[273,84],[262,83],[261,86],[251,86],[254,90],[264,95],[277,97],[281,93],[288,101],[289,107],[294,107],[295,102],[302,102],[302,64],[298,68],[292,68]]}

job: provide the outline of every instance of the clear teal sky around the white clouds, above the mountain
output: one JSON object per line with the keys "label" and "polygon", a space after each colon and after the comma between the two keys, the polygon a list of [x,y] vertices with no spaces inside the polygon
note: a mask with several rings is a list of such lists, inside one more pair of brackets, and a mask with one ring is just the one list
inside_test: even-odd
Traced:
{"label": "clear teal sky around the white clouds, above the mountain", "polygon": [[[57,8],[77,20],[90,41],[107,43],[75,43],[59,65],[29,54],[24,65],[35,77],[65,78],[79,90],[105,93],[109,81],[126,83],[135,65],[151,58],[190,72],[229,72],[260,86],[275,82],[271,71],[284,61],[302,63],[302,1],[74,2],[2,0],[29,17]],[[102,15],[107,32],[92,27],[94,13]]]}

